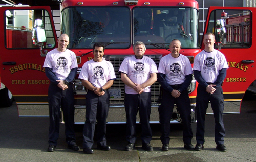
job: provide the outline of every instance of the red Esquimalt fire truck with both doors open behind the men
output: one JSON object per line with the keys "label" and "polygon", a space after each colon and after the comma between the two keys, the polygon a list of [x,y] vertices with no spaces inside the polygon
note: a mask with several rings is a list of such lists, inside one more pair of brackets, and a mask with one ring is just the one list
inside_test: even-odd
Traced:
{"label": "red Esquimalt fire truck with both doors open behind the men", "polygon": [[[93,44],[105,44],[104,59],[115,69],[117,80],[109,89],[110,109],[108,123],[125,123],[124,83],[118,73],[126,56],[134,55],[133,44],[142,41],[145,55],[159,64],[168,55],[169,44],[179,39],[181,54],[187,56],[191,66],[195,56],[204,49],[200,43],[199,10],[197,1],[170,0],[59,0],[60,29],[70,37],[68,48],[77,56],[78,74],[73,81],[75,95],[75,123],[85,121],[85,94],[78,75],[84,62],[93,58]],[[49,6],[0,8],[0,74],[12,92],[19,117],[47,117],[48,86],[44,64],[47,52],[57,48],[56,29]],[[252,12],[246,7],[210,7],[206,19],[206,32],[216,36],[216,49],[226,57],[229,65],[223,83],[225,113],[239,113],[244,92],[256,79],[252,52]],[[8,13],[11,13],[8,16]],[[246,19],[246,20],[244,20]],[[255,20],[254,20],[255,21]],[[256,21],[255,21],[256,22]],[[4,77],[3,77],[4,76]],[[193,79],[188,87],[191,100],[191,118],[196,122],[196,88]],[[151,86],[151,123],[159,123],[161,90],[158,82]],[[211,112],[209,112],[211,113]],[[137,117],[139,123],[139,117]],[[174,109],[172,123],[181,123]]]}

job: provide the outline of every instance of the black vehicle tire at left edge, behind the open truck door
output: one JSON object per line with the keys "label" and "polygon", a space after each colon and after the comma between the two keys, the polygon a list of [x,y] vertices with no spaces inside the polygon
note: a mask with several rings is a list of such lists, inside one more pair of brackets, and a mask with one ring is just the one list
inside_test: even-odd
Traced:
{"label": "black vehicle tire at left edge, behind the open truck door", "polygon": [[11,92],[4,88],[0,90],[0,107],[10,107],[13,102],[13,96]]}

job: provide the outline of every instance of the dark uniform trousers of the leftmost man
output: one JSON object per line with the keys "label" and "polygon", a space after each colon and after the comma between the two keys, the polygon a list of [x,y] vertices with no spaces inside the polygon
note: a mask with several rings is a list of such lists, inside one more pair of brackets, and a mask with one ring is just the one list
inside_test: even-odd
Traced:
{"label": "dark uniform trousers of the leftmost man", "polygon": [[65,122],[66,142],[68,145],[75,144],[75,131],[74,131],[74,93],[72,84],[68,85],[68,89],[62,90],[55,84],[50,84],[48,89],[48,102],[49,102],[49,145],[57,145],[59,137],[59,125],[61,111]]}

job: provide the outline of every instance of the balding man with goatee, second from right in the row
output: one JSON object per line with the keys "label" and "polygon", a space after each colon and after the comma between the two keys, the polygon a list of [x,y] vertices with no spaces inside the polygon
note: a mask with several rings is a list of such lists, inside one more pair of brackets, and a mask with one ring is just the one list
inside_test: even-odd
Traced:
{"label": "balding man with goatee, second from right in the row", "polygon": [[190,99],[187,88],[192,81],[192,67],[189,59],[180,54],[181,43],[178,39],[172,40],[169,46],[171,53],[164,56],[158,67],[158,81],[162,88],[161,105],[158,108],[161,124],[162,151],[169,150],[170,120],[174,104],[180,113],[183,123],[184,148],[194,150],[191,144],[193,137],[191,129]]}

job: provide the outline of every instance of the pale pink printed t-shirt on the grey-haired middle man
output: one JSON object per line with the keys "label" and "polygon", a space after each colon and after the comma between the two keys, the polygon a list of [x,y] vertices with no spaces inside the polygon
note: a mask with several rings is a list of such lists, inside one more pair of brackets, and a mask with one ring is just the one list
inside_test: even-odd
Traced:
{"label": "pale pink printed t-shirt on the grey-haired middle man", "polygon": [[[147,56],[142,59],[136,59],[135,56],[126,57],[119,72],[127,74],[127,77],[134,83],[142,84],[150,79],[150,74],[158,73],[156,63]],[[143,89],[144,92],[150,92],[150,86]],[[126,94],[138,94],[133,88],[125,85]]]}

